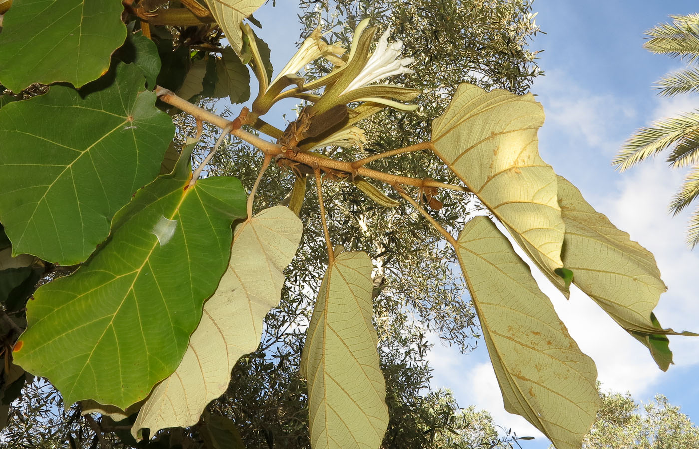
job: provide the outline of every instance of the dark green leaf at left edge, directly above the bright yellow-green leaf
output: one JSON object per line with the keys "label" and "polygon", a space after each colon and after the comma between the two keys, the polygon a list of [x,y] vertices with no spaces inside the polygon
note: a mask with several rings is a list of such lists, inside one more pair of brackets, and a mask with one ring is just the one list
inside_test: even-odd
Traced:
{"label": "dark green leaf at left edge, directly above the bright yellow-green leaf", "polygon": [[0,220],[15,254],[87,259],[114,213],[158,174],[175,127],[154,103],[140,70],[120,64],[85,97],[53,86],[0,109]]}

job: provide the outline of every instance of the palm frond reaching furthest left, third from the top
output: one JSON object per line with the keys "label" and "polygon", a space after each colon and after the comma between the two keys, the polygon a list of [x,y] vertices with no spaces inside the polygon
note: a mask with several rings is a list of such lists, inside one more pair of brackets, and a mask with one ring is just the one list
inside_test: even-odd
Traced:
{"label": "palm frond reaching furthest left, third from the top", "polygon": [[651,127],[641,128],[630,136],[621,146],[612,165],[624,171],[682,141],[685,136],[695,135],[697,132],[699,132],[699,109],[693,113],[683,113],[678,117],[658,120]]}

